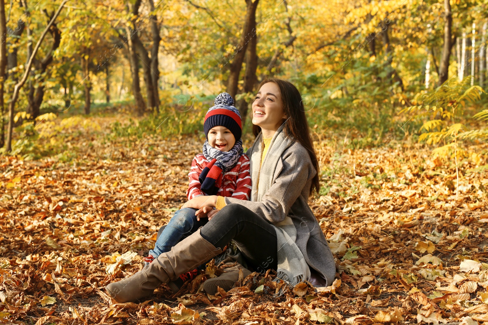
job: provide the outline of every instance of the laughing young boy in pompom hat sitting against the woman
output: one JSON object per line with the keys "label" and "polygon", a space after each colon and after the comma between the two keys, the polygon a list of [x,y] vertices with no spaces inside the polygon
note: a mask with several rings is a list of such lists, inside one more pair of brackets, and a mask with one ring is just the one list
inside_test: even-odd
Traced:
{"label": "laughing young boy in pompom hat sitting against the woman", "polygon": [[[234,99],[227,93],[217,96],[214,104],[205,115],[203,131],[207,140],[203,144],[203,153],[197,154],[191,163],[186,196],[190,200],[200,195],[218,194],[249,200],[251,177],[249,158],[243,153],[242,147],[241,115],[233,106]],[[199,214],[195,215],[197,211]],[[203,210],[183,208],[176,211],[156,241],[154,249],[144,259],[146,265],[206,224],[214,211],[208,207]],[[196,273],[195,269],[182,274],[180,278],[184,282]]]}

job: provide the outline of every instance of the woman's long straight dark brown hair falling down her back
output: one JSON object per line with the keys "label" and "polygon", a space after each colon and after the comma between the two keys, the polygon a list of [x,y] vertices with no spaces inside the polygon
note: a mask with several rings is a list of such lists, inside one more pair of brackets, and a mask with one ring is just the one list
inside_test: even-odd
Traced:
{"label": "woman's long straight dark brown hair falling down her back", "polygon": [[[259,88],[265,83],[274,82],[280,88],[281,101],[283,103],[283,111],[287,116],[285,121],[285,135],[289,135],[298,141],[308,151],[308,155],[312,160],[312,165],[317,171],[312,180],[312,186],[310,187],[310,195],[313,191],[320,190],[319,184],[319,161],[317,160],[317,154],[313,148],[312,137],[308,129],[308,122],[305,116],[305,108],[302,100],[302,96],[298,89],[289,81],[278,78],[266,78],[261,82]],[[254,136],[257,136],[261,132],[261,127],[253,125],[252,132]]]}

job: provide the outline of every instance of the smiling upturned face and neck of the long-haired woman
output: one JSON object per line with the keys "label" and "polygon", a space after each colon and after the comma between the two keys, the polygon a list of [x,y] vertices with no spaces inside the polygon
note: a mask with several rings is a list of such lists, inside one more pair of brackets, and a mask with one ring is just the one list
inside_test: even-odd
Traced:
{"label": "smiling upturned face and neck of the long-haired woman", "polygon": [[274,82],[265,83],[252,103],[252,124],[261,127],[264,135],[266,131],[274,134],[285,118],[280,88]]}

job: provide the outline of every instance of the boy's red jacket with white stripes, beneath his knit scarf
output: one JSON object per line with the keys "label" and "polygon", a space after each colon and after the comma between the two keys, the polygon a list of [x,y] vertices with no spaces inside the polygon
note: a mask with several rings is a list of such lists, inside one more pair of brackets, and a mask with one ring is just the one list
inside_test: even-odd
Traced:
{"label": "boy's red jacket with white stripes, beneath his knit scarf", "polygon": [[[215,182],[215,186],[219,188],[217,195],[235,197],[240,200],[249,200],[251,197],[251,176],[249,175],[249,157],[245,154],[239,158],[237,164],[228,172],[224,172]],[[202,153],[199,153],[193,158],[191,162],[191,169],[188,173],[190,184],[186,196],[191,200],[195,196],[205,195],[200,190],[200,181],[198,176],[203,168],[208,164],[208,160]]]}

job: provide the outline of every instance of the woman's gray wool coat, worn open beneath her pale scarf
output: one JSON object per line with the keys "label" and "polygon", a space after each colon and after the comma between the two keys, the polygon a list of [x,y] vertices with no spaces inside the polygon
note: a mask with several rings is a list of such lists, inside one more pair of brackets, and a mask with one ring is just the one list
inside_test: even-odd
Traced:
{"label": "woman's gray wool coat, worn open beneath her pale scarf", "polygon": [[[261,162],[261,136],[258,136],[256,141],[260,142],[255,142],[255,145],[247,151],[247,155],[251,157],[250,172],[253,187],[258,184],[259,179],[259,172],[256,171],[260,169],[256,167]],[[315,174],[307,150],[295,141],[285,149],[281,159],[278,160],[271,188],[264,193],[261,201],[243,201],[232,197],[225,197],[224,200],[226,204],[243,205],[273,224],[283,221],[286,216],[292,218],[297,229],[296,244],[302,251],[305,261],[311,271],[312,269],[317,271],[326,280],[326,285],[330,286],[336,272],[334,258],[324,233],[308,206],[308,195]]]}

